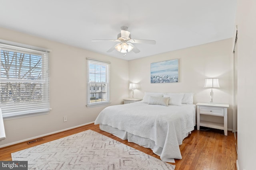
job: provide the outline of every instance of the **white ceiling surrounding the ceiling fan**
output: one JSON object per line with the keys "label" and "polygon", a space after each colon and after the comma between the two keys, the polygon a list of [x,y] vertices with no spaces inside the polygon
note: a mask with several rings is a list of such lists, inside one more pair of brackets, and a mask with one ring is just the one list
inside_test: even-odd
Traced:
{"label": "white ceiling surrounding the ceiling fan", "polygon": [[[236,0],[0,0],[0,27],[132,60],[231,38]],[[140,53],[107,53],[120,27]],[[0,37],[1,39],[1,37]],[[50,48],[50,47],[49,47]]]}

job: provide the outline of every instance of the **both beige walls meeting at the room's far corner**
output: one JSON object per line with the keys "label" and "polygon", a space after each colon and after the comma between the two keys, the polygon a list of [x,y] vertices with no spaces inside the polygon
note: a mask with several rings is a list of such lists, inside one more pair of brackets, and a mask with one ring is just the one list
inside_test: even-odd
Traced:
{"label": "both beige walls meeting at the room's far corner", "polygon": [[[84,49],[48,41],[23,33],[0,28],[0,39],[51,49],[50,53],[50,104],[47,115],[5,120],[6,139],[0,147],[22,140],[62,131],[93,122],[106,107],[86,107],[86,57],[111,64],[111,105],[122,104],[132,96],[129,82],[137,82],[135,98],[144,92],[194,92],[194,104],[210,101],[210,89],[204,79],[218,77],[219,89],[214,89],[214,102],[230,104],[228,129],[232,129],[232,39],[180,49],[168,53],[125,61]],[[178,83],[151,84],[150,63],[179,59]],[[63,122],[63,116],[68,117]],[[216,119],[214,121],[220,121]]]}

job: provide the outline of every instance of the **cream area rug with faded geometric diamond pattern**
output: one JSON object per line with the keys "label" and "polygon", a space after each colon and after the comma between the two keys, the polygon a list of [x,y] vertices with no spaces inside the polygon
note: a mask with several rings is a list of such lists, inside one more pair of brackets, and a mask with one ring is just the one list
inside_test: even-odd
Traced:
{"label": "cream area rug with faded geometric diamond pattern", "polygon": [[92,130],[12,153],[30,170],[174,170],[175,166]]}

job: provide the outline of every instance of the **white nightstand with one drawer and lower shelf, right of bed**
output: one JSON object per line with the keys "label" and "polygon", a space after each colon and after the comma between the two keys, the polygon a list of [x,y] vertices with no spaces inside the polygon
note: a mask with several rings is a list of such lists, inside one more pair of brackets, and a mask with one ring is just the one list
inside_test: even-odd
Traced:
{"label": "white nightstand with one drawer and lower shelf, right of bed", "polygon": [[[208,104],[197,103],[197,130],[200,130],[200,126],[211,127],[214,129],[224,130],[224,135],[228,135],[228,104]],[[216,123],[211,121],[200,120],[200,115],[212,115],[224,117],[223,123]]]}

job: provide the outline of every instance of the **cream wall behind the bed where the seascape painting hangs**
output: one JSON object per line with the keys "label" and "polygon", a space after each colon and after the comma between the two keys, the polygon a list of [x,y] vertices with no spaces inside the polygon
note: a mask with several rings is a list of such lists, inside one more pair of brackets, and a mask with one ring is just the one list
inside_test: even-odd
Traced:
{"label": "cream wall behind the bed where the seascape painting hangs", "polygon": [[[232,130],[232,39],[198,45],[142,59],[129,61],[129,81],[138,83],[134,98],[144,92],[194,92],[194,104],[210,102],[210,89],[204,88],[205,78],[219,78],[220,88],[214,89],[214,102],[229,104],[228,129]],[[178,83],[150,83],[150,63],[179,59]],[[131,97],[131,90],[129,92]],[[219,118],[219,117],[218,117]],[[221,119],[214,121],[221,121]]]}

